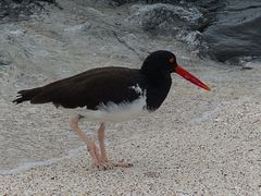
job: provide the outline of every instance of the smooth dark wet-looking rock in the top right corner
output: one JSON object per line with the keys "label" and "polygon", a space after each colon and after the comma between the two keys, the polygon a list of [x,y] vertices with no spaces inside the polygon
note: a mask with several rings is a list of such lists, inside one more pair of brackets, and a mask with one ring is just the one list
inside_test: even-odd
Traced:
{"label": "smooth dark wet-looking rock in the top right corner", "polygon": [[227,1],[214,13],[215,21],[203,32],[203,57],[232,64],[261,59],[260,1]]}

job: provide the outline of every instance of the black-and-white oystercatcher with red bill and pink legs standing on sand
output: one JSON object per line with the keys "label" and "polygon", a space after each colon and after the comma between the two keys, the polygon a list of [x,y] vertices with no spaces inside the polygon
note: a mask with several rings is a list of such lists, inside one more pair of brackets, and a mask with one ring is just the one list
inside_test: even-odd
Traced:
{"label": "black-and-white oystercatcher with red bill and pink legs standing on sand", "polygon": [[[41,87],[20,90],[13,102],[50,102],[73,113],[71,128],[86,143],[94,166],[105,170],[111,166],[104,145],[105,123],[133,120],[159,109],[172,86],[172,73],[210,90],[177,64],[173,52],[158,50],[148,54],[140,69],[105,66],[87,70]],[[99,146],[79,127],[78,123],[83,120],[99,123]],[[113,166],[128,168],[132,164],[120,161]]]}

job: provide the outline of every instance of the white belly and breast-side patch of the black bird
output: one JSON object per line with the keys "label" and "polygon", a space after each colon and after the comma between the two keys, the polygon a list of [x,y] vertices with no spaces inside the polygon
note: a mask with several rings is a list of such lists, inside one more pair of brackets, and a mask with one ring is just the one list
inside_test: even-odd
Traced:
{"label": "white belly and breast-side patch of the black bird", "polygon": [[140,95],[138,99],[132,102],[121,102],[119,105],[114,102],[101,103],[97,107],[98,110],[88,110],[86,108],[69,110],[72,110],[71,112],[75,114],[84,115],[86,121],[98,122],[123,122],[148,113],[146,109],[146,91],[142,91],[138,85],[129,88],[133,88]]}

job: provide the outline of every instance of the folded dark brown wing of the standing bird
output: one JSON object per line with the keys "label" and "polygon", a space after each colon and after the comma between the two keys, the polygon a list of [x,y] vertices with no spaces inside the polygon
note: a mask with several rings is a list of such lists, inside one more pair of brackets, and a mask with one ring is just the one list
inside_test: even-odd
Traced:
{"label": "folded dark brown wing of the standing bird", "polygon": [[94,69],[41,87],[39,93],[30,98],[30,102],[53,102],[57,107],[87,107],[96,110],[100,103],[137,99],[140,93],[132,86],[138,85],[145,89],[145,77],[139,70],[114,66]]}

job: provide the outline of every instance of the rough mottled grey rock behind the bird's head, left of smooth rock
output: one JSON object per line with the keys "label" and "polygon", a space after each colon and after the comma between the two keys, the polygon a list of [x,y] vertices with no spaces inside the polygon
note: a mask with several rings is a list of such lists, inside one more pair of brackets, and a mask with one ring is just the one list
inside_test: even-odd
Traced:
{"label": "rough mottled grey rock behind the bird's head, left of smooth rock", "polygon": [[125,20],[126,24],[150,35],[175,36],[190,44],[200,36],[198,29],[203,20],[196,8],[156,3],[133,5],[130,12],[133,14]]}

